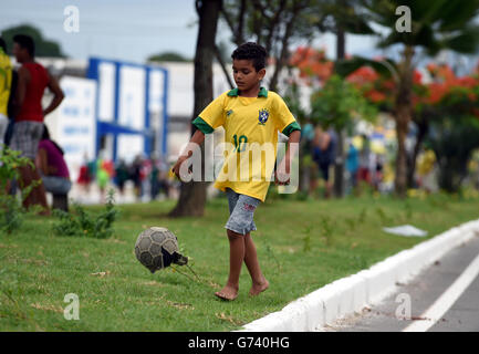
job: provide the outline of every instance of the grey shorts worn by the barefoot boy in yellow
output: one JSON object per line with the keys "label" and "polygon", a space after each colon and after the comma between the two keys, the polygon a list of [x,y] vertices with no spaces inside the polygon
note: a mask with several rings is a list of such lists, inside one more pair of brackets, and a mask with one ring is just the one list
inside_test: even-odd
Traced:
{"label": "grey shorts worn by the barefoot boy in yellow", "polygon": [[261,200],[237,194],[230,188],[227,188],[226,192],[228,196],[229,219],[225,228],[241,235],[256,231],[253,215]]}

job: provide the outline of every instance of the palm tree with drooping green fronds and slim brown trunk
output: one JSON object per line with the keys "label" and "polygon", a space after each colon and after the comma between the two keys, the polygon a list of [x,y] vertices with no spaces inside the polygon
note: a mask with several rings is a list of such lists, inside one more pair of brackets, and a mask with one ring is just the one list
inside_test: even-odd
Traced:
{"label": "palm tree with drooping green fronds and slim brown trunk", "polygon": [[[391,74],[395,77],[396,83],[394,116],[398,153],[395,191],[398,196],[405,197],[407,189],[405,138],[413,116],[415,60],[420,52],[435,55],[440,50],[466,54],[476,53],[479,48],[479,25],[473,21],[479,13],[479,0],[363,0],[362,3],[366,10],[365,15],[373,23],[389,30],[387,35],[377,32],[378,46],[391,48],[400,44],[403,48],[398,65],[388,67],[388,70],[392,71]],[[400,6],[407,6],[410,9],[410,32],[396,30],[396,23],[399,20],[396,9]]]}

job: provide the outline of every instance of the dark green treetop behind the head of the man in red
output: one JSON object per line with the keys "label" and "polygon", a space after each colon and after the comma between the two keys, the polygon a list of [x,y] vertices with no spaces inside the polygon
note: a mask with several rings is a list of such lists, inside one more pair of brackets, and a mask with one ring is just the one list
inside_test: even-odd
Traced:
{"label": "dark green treetop behind the head of the man in red", "polygon": [[65,54],[63,54],[59,43],[44,39],[41,31],[30,24],[12,27],[1,32],[1,37],[6,41],[7,48],[10,52],[13,48],[13,37],[17,34],[27,34],[33,39],[33,41],[35,42],[35,56],[66,56]]}

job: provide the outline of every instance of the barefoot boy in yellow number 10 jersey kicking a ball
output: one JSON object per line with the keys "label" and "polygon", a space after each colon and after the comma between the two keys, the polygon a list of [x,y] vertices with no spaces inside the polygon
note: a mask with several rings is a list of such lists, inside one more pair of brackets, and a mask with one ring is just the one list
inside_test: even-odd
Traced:
{"label": "barefoot boy in yellow number 10 jersey kicking a ball", "polygon": [[[215,187],[228,195],[230,217],[226,229],[230,244],[230,269],[227,284],[215,294],[229,301],[238,296],[243,261],[252,280],[250,295],[258,295],[269,287],[268,280],[261,272],[257,250],[250,236],[250,232],[257,229],[253,214],[258,205],[264,201],[268,192],[275,162],[278,131],[289,136],[290,143],[283,160],[278,166],[278,171],[284,174],[279,175],[278,171],[275,174],[275,181],[280,185],[289,183],[290,160],[298,148],[298,144],[294,143],[299,143],[301,136],[301,128],[283,100],[277,93],[260,86],[265,74],[264,48],[248,42],[235,50],[231,58],[233,77],[238,87],[225,92],[212,101],[192,122],[198,131],[173,167],[173,171],[179,178],[180,166],[192,155],[195,144],[200,145],[205,134],[210,134],[215,128],[223,126],[225,140],[231,143],[232,149],[225,159]],[[248,147],[252,144],[256,146],[270,144],[274,157],[261,159],[261,164],[250,163],[247,157],[247,166],[248,168],[252,166],[252,170],[247,171],[246,180],[236,178],[237,169],[244,168],[241,160],[249,155]]]}

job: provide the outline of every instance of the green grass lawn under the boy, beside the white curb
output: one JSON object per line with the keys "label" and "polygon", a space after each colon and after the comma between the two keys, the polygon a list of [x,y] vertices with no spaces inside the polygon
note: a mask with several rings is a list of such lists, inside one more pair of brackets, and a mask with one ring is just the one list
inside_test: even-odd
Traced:
{"label": "green grass lawn under the boy, beside the white curb", "polygon": [[[214,292],[228,275],[227,199],[210,200],[202,218],[166,218],[174,204],[118,206],[110,239],[55,236],[53,217],[28,217],[18,232],[0,233],[0,331],[231,331],[425,240],[383,226],[410,223],[430,238],[479,218],[478,198],[444,195],[269,199],[252,235],[270,289],[250,298],[243,267],[238,299],[223,302]],[[139,264],[134,244],[152,226],[175,232],[199,281],[178,272],[189,273],[185,267],[150,274]],[[63,316],[67,293],[79,296],[79,321]]]}

